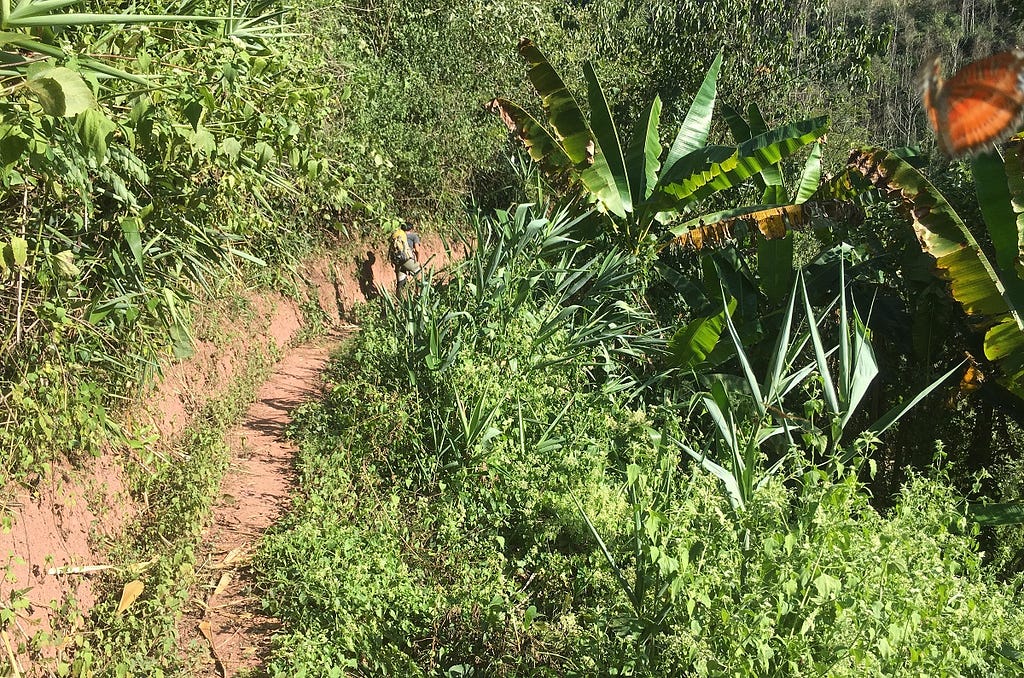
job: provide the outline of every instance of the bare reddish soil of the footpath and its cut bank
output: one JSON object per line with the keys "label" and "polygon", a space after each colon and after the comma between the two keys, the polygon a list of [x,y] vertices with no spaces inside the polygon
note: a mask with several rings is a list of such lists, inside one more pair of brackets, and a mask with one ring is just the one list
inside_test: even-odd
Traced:
{"label": "bare reddish soil of the footpath and its cut bank", "polygon": [[[439,239],[424,238],[423,249],[428,256],[437,255],[431,265],[446,265]],[[299,267],[298,277],[335,326],[349,316],[354,303],[376,296],[378,286],[388,290],[394,286],[394,272],[386,257],[372,249],[345,260],[323,256],[307,261]],[[278,347],[286,350],[301,326],[298,304],[275,294],[248,297],[257,317],[266,319],[265,326],[241,332],[234,328],[233,333],[227,332],[234,336],[226,345],[222,341],[197,342],[196,355],[166,368],[141,407],[126,412],[121,419],[136,427],[151,425],[159,433],[158,447],[172,444],[191,416],[237,376],[239,366],[232,355],[244,353],[244,347],[253,341],[265,343],[266,337],[273,337]],[[208,567],[222,562],[222,556],[234,548],[248,549],[287,508],[292,451],[282,443],[281,431],[287,411],[315,392],[318,371],[332,345],[327,342],[288,351],[246,421],[232,434],[234,459],[207,535],[212,558]],[[138,507],[124,486],[120,454],[108,452],[79,468],[55,464],[39,490],[30,492],[15,485],[3,492],[12,527],[0,532],[0,555],[8,561],[8,576],[0,582],[0,600],[9,600],[12,591],[28,589],[31,602],[28,610],[18,613],[8,637],[0,638],[15,650],[36,632],[58,626],[55,610],[62,601],[76,601],[85,613],[94,604],[89,575],[50,573],[54,567],[104,563],[111,540],[136,514]],[[253,666],[266,640],[266,629],[261,627],[264,622],[258,619],[252,601],[247,602],[245,587],[234,575],[226,589],[215,596],[214,608],[206,620],[214,629],[216,651],[232,672]],[[219,575],[217,578],[219,581]],[[201,597],[206,602],[209,592],[202,592]],[[185,629],[182,631],[187,635]],[[52,651],[57,649],[59,641]],[[0,665],[6,653],[0,642]],[[18,665],[23,675],[47,675],[45,667],[27,665],[24,655]]]}

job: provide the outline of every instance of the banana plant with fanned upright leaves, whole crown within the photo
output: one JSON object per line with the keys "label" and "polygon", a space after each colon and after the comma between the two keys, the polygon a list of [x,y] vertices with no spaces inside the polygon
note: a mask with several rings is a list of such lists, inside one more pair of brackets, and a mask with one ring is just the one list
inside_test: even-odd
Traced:
{"label": "banana plant with fanned upright leaves, whole crown within the photo", "polygon": [[590,119],[540,49],[519,44],[527,77],[541,95],[551,127],[504,98],[488,104],[526,147],[552,185],[595,203],[612,232],[634,252],[654,253],[671,238],[670,224],[696,215],[714,194],[762,174],[824,134],[827,118],[765,131],[735,145],[709,144],[722,54],[705,76],[682,126],[663,158],[662,100],[650,102],[628,143],[611,116],[593,65],[585,63]]}

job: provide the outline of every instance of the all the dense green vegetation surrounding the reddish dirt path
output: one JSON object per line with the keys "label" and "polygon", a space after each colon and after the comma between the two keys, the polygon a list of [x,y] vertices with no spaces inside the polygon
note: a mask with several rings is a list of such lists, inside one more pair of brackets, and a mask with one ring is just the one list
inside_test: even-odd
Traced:
{"label": "all the dense green vegetation surrounding the reddish dirt path", "polygon": [[472,253],[297,415],[271,674],[1019,670],[1024,144],[941,158],[915,81],[1016,3],[80,9],[0,12],[3,467],[115,440],[164,502],[60,672],[187,672],[226,415],[187,466],[116,422],[196,302],[409,216]]}

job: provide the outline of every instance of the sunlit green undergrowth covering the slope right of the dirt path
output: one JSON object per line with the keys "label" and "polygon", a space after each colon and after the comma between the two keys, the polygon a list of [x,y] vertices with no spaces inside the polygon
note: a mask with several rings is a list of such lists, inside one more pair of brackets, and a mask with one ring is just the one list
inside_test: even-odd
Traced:
{"label": "sunlit green undergrowth covering the slope right of the dirt path", "polygon": [[[254,561],[270,676],[1014,675],[1019,594],[943,472],[880,513],[859,462],[794,436],[770,471],[755,448],[737,502],[701,385],[638,363],[642,313],[602,325],[631,260],[527,212],[368,308],[294,414],[301,489]],[[760,435],[736,378],[715,393],[722,430]]]}

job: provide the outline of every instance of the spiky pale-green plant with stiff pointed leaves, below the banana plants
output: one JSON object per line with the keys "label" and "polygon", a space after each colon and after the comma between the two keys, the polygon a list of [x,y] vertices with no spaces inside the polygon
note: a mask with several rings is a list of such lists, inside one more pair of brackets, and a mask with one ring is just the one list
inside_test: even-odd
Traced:
{"label": "spiky pale-green plant with stiff pointed leaves, below the banana plants", "polygon": [[[742,376],[738,380],[729,376],[713,377],[711,387],[700,397],[715,425],[713,447],[718,450],[717,459],[707,451],[698,452],[683,441],[677,442],[683,452],[722,481],[737,514],[745,508],[754,492],[784,467],[785,454],[779,455],[770,465],[765,464],[765,452],[773,438],[784,438],[784,450],[799,447],[801,440],[818,440],[816,452],[826,462],[846,463],[860,450],[858,446],[848,444],[847,428],[879,369],[867,327],[856,306],[849,303],[845,288],[845,268],[841,265],[841,293],[829,305],[829,309],[836,308],[838,313],[838,343],[826,349],[821,328],[828,313],[815,314],[803,277],[798,274],[763,379],[758,379],[754,372],[728,307],[723,312]],[[796,324],[798,304],[805,315],[802,331],[798,331]],[[805,357],[807,353],[810,353],[809,358]],[[915,396],[898,404],[860,435],[881,435],[962,365],[946,372]],[[788,414],[791,408],[786,397],[813,380],[818,382],[824,402],[821,422]]]}

